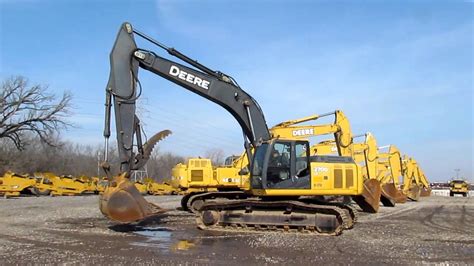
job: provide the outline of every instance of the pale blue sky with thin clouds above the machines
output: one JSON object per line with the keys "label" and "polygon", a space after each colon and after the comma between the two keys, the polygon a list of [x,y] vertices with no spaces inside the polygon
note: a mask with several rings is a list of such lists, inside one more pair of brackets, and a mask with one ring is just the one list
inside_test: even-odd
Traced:
{"label": "pale blue sky with thin clouds above the machines", "polygon": [[[473,174],[473,4],[461,1],[0,1],[0,77],[74,95],[63,138],[102,143],[108,55],[118,27],[137,29],[232,75],[269,126],[343,110],[421,164],[431,180]],[[141,45],[140,45],[141,44]],[[139,45],[152,48],[139,41]],[[242,150],[219,106],[140,73],[148,135],[162,151]],[[330,121],[330,120],[324,120]],[[472,179],[471,179],[472,180]]]}

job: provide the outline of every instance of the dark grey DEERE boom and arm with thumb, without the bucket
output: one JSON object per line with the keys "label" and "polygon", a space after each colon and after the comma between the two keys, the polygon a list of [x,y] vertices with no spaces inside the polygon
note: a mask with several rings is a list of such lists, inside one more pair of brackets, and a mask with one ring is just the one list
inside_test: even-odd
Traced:
{"label": "dark grey DEERE boom and arm with thumb, without the bucket", "polygon": [[[193,68],[165,59],[152,51],[137,48],[135,36],[150,41]],[[140,120],[135,114],[136,100],[141,94],[141,85],[138,79],[140,68],[153,72],[222,106],[237,120],[253,147],[270,139],[260,106],[230,76],[211,70],[174,48],[168,48],[133,29],[131,24],[123,23],[110,54],[104,130],[104,137],[108,143],[113,102],[122,172],[143,166],[155,144],[153,141],[160,139],[159,137],[151,138],[148,143],[144,145],[141,143]],[[138,91],[137,84],[140,89]],[[137,139],[137,155],[134,155],[133,152],[134,136]]]}

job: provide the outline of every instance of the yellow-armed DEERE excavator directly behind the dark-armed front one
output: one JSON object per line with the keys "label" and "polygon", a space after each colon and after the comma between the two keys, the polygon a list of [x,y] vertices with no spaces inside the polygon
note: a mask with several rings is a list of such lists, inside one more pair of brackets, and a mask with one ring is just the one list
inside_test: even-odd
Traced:
{"label": "yellow-armed DEERE excavator directly behind the dark-armed front one", "polygon": [[[334,115],[333,123],[321,125],[301,125],[301,123],[315,121],[331,115]],[[335,146],[336,151],[338,149],[348,149],[352,141],[349,120],[340,110],[279,123],[270,129],[270,134],[272,138],[301,140],[308,140],[309,138],[316,136],[333,134],[334,137],[338,139],[337,143],[339,143],[337,147]],[[311,149],[313,149],[313,146]],[[349,154],[347,151],[341,151],[341,153]],[[182,164],[179,164],[177,167],[175,167],[173,177],[175,180],[179,180],[181,182],[179,184],[182,187],[187,185],[191,188],[206,190],[206,192],[216,190],[249,190],[250,183],[248,178],[248,160],[246,153],[244,152],[242,155],[235,156],[228,161],[232,162],[229,167],[217,167],[213,169],[209,159],[190,159],[188,161],[188,164],[190,164],[188,167],[185,167]],[[198,164],[196,164],[196,162]],[[205,162],[205,164],[203,164],[203,162]],[[321,165],[315,166],[319,167],[319,169],[332,167],[330,163],[321,163]],[[199,167],[202,167],[203,169],[199,169]],[[179,175],[177,174],[178,170],[180,171]],[[340,195],[338,193],[342,193],[342,195],[345,196],[353,196],[362,210],[372,213],[377,212],[380,203],[379,188],[377,186],[368,187],[373,185],[375,182],[369,181],[364,184],[363,192],[360,194],[359,190],[348,189],[348,187],[350,187],[348,184],[343,186],[343,175],[339,175],[338,173],[338,170],[334,170],[335,179],[323,178],[323,180],[320,181],[318,184],[320,196]],[[348,182],[358,184],[359,181],[356,180],[358,178],[363,177],[361,175],[354,174],[352,181]],[[192,205],[196,199],[202,200],[202,195],[200,195],[202,193],[204,192],[195,191],[185,195],[181,201],[182,208],[184,210],[194,209]],[[212,193],[210,195],[212,195]]]}

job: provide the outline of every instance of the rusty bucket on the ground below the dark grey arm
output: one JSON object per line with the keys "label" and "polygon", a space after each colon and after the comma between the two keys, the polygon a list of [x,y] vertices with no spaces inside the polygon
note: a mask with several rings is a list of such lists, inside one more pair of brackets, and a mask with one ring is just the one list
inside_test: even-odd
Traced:
{"label": "rusty bucket on the ground below the dark grey arm", "polygon": [[110,220],[132,223],[159,216],[167,210],[146,201],[123,173],[114,177],[101,195],[100,211]]}

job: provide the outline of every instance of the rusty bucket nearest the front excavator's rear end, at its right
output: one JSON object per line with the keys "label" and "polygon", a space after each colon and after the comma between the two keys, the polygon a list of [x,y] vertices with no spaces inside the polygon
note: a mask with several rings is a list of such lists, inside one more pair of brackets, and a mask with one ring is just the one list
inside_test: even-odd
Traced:
{"label": "rusty bucket nearest the front excavator's rear end, at its right", "polygon": [[353,199],[364,212],[376,213],[379,211],[381,194],[380,181],[368,179],[364,182],[362,195],[354,196]]}

